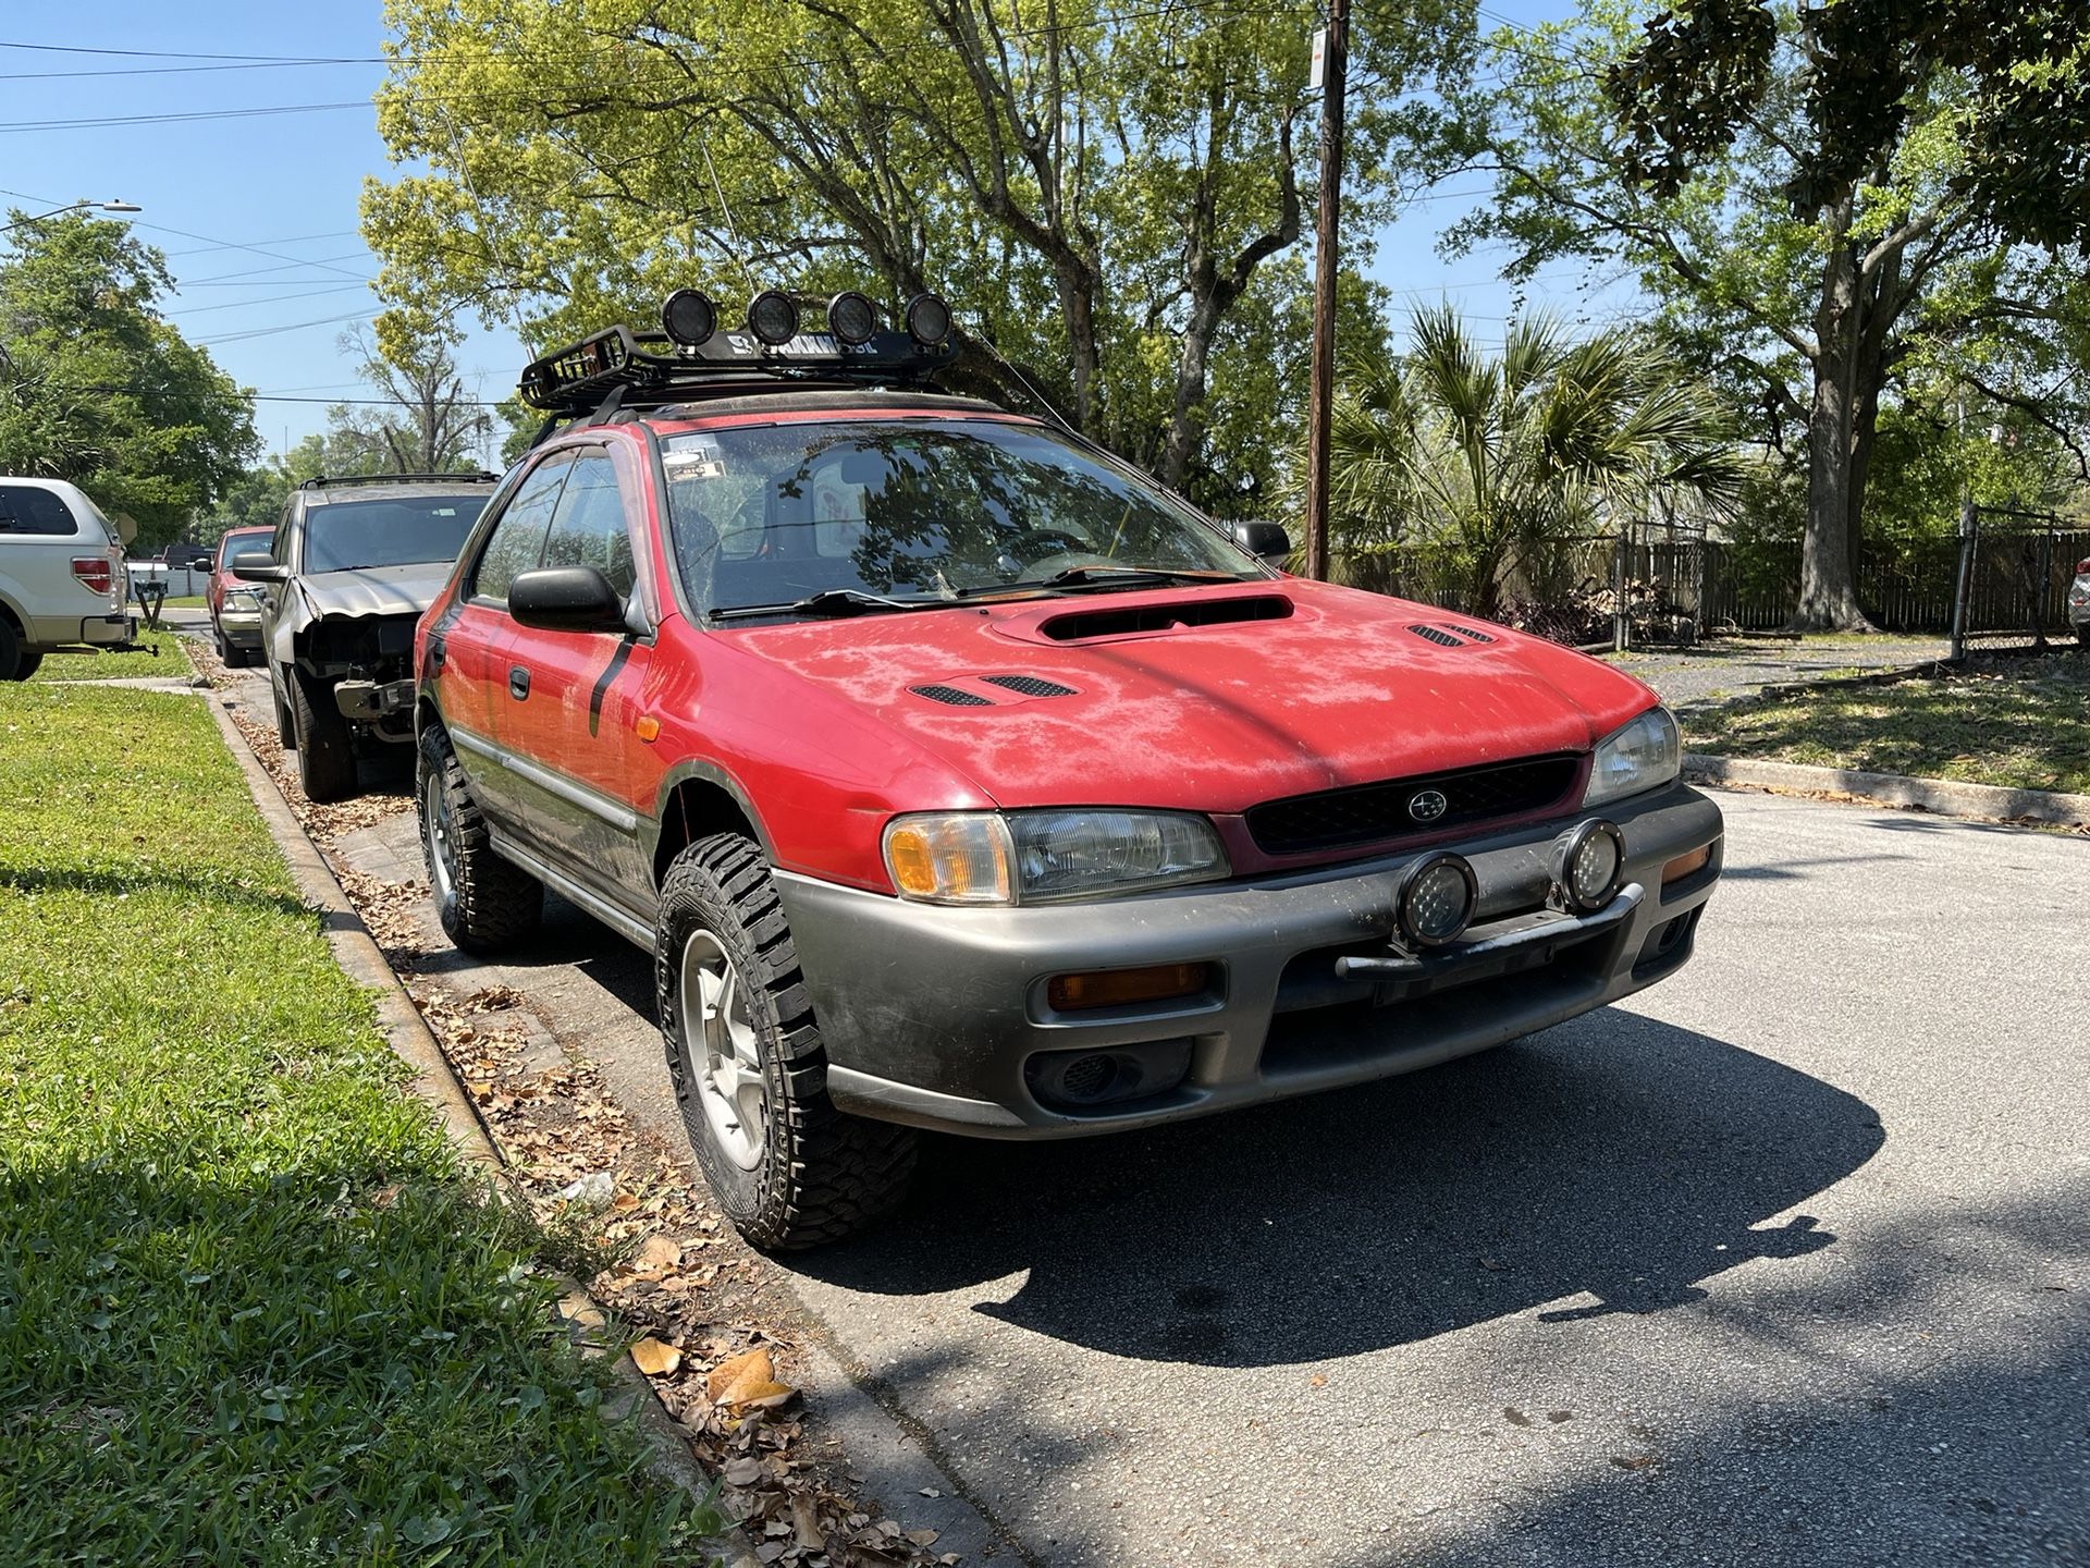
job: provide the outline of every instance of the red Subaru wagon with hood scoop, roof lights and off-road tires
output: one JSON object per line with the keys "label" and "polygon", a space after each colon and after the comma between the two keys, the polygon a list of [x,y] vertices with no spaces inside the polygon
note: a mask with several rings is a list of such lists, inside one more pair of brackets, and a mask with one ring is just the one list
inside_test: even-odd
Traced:
{"label": "red Subaru wagon with hood scoop, roof lights and off-road tires", "polygon": [[420,826],[458,945],[552,886],[652,949],[754,1244],[892,1206],[922,1127],[1340,1089],[1691,955],[1720,813],[1630,675],[945,395],[934,297],[663,318],[525,376],[545,433],[418,629]]}

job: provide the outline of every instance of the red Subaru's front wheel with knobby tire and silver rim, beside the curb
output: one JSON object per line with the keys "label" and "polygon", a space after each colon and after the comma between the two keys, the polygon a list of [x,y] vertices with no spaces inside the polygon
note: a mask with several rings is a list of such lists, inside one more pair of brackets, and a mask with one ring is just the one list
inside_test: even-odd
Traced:
{"label": "red Subaru's front wheel with knobby tire and silver rim, beside the curb", "polygon": [[719,1208],[775,1252],[853,1236],[907,1194],[911,1127],[844,1116],[775,880],[740,834],[700,838],[660,882],[660,1039]]}

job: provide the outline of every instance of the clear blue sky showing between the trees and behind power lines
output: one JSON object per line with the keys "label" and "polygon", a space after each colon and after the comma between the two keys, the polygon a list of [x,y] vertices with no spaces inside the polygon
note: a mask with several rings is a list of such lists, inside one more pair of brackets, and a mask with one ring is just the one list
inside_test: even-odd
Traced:
{"label": "clear blue sky showing between the trees and behind power lines", "polygon": [[[1488,15],[1530,25],[1563,8],[1561,0],[1492,0]],[[382,79],[382,67],[370,63],[380,40],[376,0],[100,0],[90,10],[0,10],[0,205],[138,203],[144,211],[132,222],[167,253],[178,280],[178,295],[165,301],[169,320],[255,389],[255,422],[270,449],[322,429],[328,401],[366,391],[336,339],[374,309],[368,280],[376,263],[355,232],[355,201],[366,176],[391,171],[368,102]],[[142,52],[343,63],[245,65]],[[272,113],[286,107],[295,111]],[[65,123],[224,111],[259,113]],[[1446,190],[1482,184],[1482,176],[1463,176]],[[1507,312],[1492,261],[1436,255],[1438,232],[1465,207],[1457,194],[1413,207],[1381,236],[1373,272],[1407,291],[1404,299],[1455,299],[1492,337]],[[1572,276],[1549,282],[1563,291],[1561,305],[1576,303]],[[1545,299],[1547,289],[1530,297]],[[520,345],[506,330],[468,330],[460,355],[466,381],[481,397],[506,395]]]}

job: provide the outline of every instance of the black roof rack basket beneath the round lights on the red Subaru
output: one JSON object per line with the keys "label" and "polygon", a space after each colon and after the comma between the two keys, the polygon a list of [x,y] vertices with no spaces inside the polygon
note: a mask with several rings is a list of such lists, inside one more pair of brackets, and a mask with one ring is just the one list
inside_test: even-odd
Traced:
{"label": "black roof rack basket beneath the round lights on the red Subaru", "polygon": [[[658,408],[748,393],[777,383],[803,387],[928,387],[955,351],[907,332],[874,332],[842,343],[834,332],[798,332],[769,345],[752,332],[719,332],[677,345],[667,332],[608,326],[543,355],[522,372],[522,401],[560,420],[604,420],[623,408]],[[541,437],[539,437],[541,439]]]}

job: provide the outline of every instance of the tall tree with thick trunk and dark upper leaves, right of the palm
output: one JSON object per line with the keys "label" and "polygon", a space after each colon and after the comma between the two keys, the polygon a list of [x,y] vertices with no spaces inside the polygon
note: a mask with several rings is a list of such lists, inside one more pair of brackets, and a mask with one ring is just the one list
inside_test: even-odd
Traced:
{"label": "tall tree with thick trunk and dark upper leaves, right of the palm", "polygon": [[[1860,44],[1860,10],[1879,8],[1705,0],[1636,29],[1639,6],[1584,0],[1572,23],[1499,33],[1496,201],[1455,236],[1507,240],[1517,276],[1622,257],[1772,445],[1804,431],[1799,629],[1866,625],[1856,558],[1883,406],[1914,378],[2065,424],[2048,395],[2080,335],[2080,286],[1998,228],[2002,186],[1973,194],[1998,111],[1985,67],[1923,44],[1925,6],[1881,10]],[[1856,111],[1868,94],[1881,113]]]}

